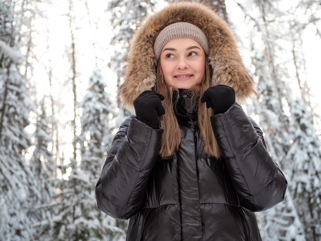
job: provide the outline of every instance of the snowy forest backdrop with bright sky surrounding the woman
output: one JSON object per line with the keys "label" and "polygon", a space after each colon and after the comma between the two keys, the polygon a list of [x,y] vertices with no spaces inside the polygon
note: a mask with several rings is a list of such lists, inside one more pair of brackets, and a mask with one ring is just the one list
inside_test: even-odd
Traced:
{"label": "snowy forest backdrop with bright sky surrounding the woman", "polygon": [[[124,118],[132,34],[157,0],[0,0],[0,240],[125,240],[95,184]],[[321,240],[321,1],[208,0],[235,33],[258,96],[244,105],[284,171],[263,240]]]}

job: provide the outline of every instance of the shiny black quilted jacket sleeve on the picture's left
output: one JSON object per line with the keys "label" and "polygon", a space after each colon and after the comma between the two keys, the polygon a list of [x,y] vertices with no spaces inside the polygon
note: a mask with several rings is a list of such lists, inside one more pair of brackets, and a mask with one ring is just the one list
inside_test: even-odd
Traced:
{"label": "shiny black quilted jacket sleeve on the picture's left", "polygon": [[136,117],[125,120],[115,135],[96,184],[98,208],[114,218],[128,219],[143,205],[163,129]]}

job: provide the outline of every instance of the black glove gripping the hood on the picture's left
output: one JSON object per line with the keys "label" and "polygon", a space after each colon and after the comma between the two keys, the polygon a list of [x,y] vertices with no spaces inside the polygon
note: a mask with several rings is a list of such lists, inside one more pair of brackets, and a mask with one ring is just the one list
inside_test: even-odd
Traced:
{"label": "black glove gripping the hood on the picture's left", "polygon": [[161,94],[145,90],[134,101],[137,119],[156,129],[158,127],[158,116],[165,114],[162,105],[164,99]]}

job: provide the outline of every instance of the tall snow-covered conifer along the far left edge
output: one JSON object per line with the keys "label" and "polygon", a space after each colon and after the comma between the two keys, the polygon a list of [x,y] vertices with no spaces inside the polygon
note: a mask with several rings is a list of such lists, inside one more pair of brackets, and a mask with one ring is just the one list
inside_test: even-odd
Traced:
{"label": "tall snow-covered conifer along the far left edge", "polygon": [[26,164],[31,136],[25,128],[34,109],[27,79],[20,73],[19,29],[12,2],[0,1],[0,237],[32,240],[36,220],[32,204],[41,194]]}

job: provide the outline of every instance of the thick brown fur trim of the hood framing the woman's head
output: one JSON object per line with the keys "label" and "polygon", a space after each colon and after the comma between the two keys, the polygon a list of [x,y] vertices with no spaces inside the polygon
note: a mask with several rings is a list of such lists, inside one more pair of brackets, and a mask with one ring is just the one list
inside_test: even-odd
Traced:
{"label": "thick brown fur trim of the hood framing the woman's head", "polygon": [[177,22],[191,23],[206,34],[213,86],[223,84],[233,87],[237,102],[255,94],[254,82],[239,55],[229,25],[208,6],[181,2],[170,4],[150,15],[134,34],[127,57],[124,82],[118,93],[125,108],[133,109],[134,99],[143,91],[151,90],[155,86],[155,39],[162,29]]}

